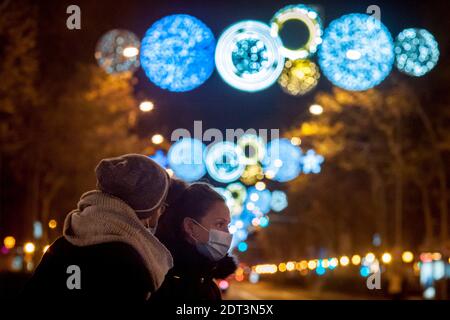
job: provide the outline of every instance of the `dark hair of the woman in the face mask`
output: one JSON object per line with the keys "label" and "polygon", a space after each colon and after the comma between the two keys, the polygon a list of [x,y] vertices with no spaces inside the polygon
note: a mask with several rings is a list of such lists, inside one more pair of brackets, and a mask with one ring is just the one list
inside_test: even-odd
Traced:
{"label": "dark hair of the woman in the face mask", "polygon": [[184,219],[200,221],[217,201],[225,202],[208,183],[187,184],[182,180],[172,179],[166,199],[168,207],[159,219],[156,237],[167,247],[183,241]]}

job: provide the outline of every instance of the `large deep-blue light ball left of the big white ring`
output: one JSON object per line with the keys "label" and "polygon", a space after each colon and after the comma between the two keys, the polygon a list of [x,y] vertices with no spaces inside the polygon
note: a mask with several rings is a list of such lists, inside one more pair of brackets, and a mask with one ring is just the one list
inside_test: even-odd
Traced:
{"label": "large deep-blue light ball left of the big white ring", "polygon": [[151,82],[184,92],[203,84],[214,70],[216,40],[200,20],[175,14],[156,21],[145,33],[141,64]]}

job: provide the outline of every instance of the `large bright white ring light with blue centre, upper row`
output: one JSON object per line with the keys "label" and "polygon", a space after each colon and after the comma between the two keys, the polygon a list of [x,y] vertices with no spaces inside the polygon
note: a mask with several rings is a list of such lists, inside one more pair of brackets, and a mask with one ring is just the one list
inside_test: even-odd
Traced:
{"label": "large bright white ring light with blue centre, upper row", "polygon": [[259,21],[242,21],[220,36],[215,54],[217,71],[230,86],[243,91],[259,91],[277,81],[284,57],[279,37]]}

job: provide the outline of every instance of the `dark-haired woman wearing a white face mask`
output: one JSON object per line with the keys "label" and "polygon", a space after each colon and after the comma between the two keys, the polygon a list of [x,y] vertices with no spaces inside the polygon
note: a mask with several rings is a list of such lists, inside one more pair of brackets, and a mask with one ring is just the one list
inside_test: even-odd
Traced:
{"label": "dark-haired woman wearing a white face mask", "polygon": [[156,236],[170,250],[174,267],[150,302],[161,300],[221,300],[215,279],[225,279],[237,267],[228,254],[232,236],[230,211],[210,185],[172,179],[168,208]]}

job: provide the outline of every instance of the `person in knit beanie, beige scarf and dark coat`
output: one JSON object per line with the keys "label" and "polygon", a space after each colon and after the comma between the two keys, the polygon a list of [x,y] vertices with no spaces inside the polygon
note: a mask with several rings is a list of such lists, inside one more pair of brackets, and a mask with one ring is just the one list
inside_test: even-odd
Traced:
{"label": "person in knit beanie, beige scarf and dark coat", "polygon": [[81,196],[63,236],[46,251],[22,298],[144,304],[173,261],[153,235],[170,186],[150,158],[128,154],[102,160],[97,190]]}

